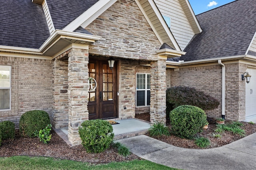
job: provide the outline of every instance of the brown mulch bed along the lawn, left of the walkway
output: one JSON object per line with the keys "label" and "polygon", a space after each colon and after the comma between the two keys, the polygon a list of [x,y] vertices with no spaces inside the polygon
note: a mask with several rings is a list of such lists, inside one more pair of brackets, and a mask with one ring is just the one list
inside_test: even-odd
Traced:
{"label": "brown mulch bed along the lawn, left of the walkway", "polygon": [[0,157],[9,156],[47,156],[61,158],[66,160],[76,160],[89,162],[92,164],[122,162],[140,159],[134,154],[128,157],[121,156],[118,151],[110,147],[102,153],[87,153],[82,145],[70,148],[54,131],[51,131],[52,139],[50,143],[44,144],[39,141],[39,138],[22,137],[19,131],[16,130],[13,140],[4,140],[0,146]]}

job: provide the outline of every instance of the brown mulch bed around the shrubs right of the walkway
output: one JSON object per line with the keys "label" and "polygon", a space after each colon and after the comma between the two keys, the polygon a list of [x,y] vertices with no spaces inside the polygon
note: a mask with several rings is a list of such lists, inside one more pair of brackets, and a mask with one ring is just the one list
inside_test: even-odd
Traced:
{"label": "brown mulch bed around the shrubs right of the walkway", "polygon": [[[135,117],[138,119],[150,121],[149,113],[136,114]],[[232,132],[229,132],[229,131],[225,131],[224,133],[222,133],[221,138],[213,137],[213,134],[217,134],[216,132],[214,132],[214,130],[216,129],[215,120],[213,118],[207,118],[207,121],[209,123],[208,129],[204,130],[200,134],[197,134],[199,137],[207,137],[208,139],[210,139],[211,145],[205,149],[221,147],[243,138],[243,137],[240,137],[238,134],[233,134]],[[225,123],[230,123],[230,122],[231,121],[225,121]],[[248,122],[242,122],[242,123],[243,123],[242,129],[245,130],[246,136],[251,135],[252,133],[256,133],[256,124],[252,125]],[[166,126],[171,128],[169,120],[166,121]],[[149,133],[146,133],[146,135],[150,136]],[[174,135],[170,135],[170,136],[163,135],[162,137],[159,137],[159,138],[157,137],[153,137],[153,138],[163,141],[165,143],[168,143],[170,145],[174,145],[176,147],[189,148],[189,149],[202,149],[194,144],[194,140],[182,139]]]}

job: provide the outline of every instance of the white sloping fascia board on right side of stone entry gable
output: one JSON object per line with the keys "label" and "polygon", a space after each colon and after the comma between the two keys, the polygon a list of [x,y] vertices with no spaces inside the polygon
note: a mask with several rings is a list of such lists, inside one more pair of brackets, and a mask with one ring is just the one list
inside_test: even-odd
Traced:
{"label": "white sloping fascia board on right side of stone entry gable", "polygon": [[159,9],[156,6],[156,3],[154,2],[154,0],[148,0],[150,6],[152,7],[152,9],[154,10],[158,20],[160,21],[160,23],[162,24],[162,26],[164,27],[164,30],[166,31],[166,33],[168,34],[168,37],[171,39],[175,49],[177,51],[181,51],[180,46],[178,45],[176,39],[174,38],[174,36],[172,35],[172,32],[170,30],[170,28],[168,27],[168,25],[166,24],[166,22],[164,21],[164,18],[162,17],[162,14],[160,13]]}

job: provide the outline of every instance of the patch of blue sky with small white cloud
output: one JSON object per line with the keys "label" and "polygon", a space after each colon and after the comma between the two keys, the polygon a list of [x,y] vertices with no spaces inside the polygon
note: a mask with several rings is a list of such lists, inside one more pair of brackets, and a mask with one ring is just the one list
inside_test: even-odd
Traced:
{"label": "patch of blue sky with small white cloud", "polygon": [[188,0],[194,13],[201,14],[219,6],[233,2],[234,0]]}

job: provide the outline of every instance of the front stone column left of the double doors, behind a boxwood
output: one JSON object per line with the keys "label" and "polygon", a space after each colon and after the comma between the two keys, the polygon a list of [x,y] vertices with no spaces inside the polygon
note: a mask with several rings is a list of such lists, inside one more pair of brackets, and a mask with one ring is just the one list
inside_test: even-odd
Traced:
{"label": "front stone column left of the double doors, behind a boxwood", "polygon": [[68,140],[73,146],[81,144],[78,127],[89,119],[88,56],[86,49],[73,48],[68,54]]}

